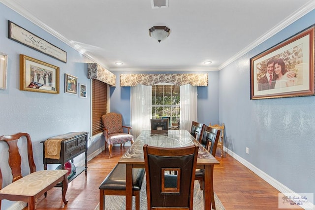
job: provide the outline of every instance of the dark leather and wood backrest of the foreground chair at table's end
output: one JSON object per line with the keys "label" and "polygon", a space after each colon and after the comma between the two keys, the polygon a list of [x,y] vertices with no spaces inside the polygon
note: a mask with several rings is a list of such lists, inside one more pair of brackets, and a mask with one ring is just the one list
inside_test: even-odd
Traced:
{"label": "dark leather and wood backrest of the foreground chair at table's end", "polygon": [[157,207],[192,210],[198,147],[158,148],[144,145],[143,152],[148,210]]}

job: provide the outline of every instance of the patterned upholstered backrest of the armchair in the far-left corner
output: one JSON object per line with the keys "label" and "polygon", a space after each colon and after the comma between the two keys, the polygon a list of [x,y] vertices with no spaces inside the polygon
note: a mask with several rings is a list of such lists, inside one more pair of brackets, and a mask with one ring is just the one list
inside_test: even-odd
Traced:
{"label": "patterned upholstered backrest of the armchair in the far-left corner", "polygon": [[102,116],[104,128],[108,130],[108,134],[123,133],[123,117],[118,113],[107,113]]}

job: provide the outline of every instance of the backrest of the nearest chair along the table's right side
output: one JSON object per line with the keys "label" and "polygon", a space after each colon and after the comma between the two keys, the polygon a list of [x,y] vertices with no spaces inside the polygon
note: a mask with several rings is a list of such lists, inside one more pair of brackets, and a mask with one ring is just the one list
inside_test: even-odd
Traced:
{"label": "backrest of the nearest chair along the table's right side", "polygon": [[215,157],[218,142],[220,139],[220,130],[205,125],[201,144]]}

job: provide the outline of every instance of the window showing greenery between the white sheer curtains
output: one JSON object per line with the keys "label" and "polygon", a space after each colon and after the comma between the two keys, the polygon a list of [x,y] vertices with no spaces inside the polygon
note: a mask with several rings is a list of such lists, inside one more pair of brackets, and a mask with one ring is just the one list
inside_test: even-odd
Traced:
{"label": "window showing greenery between the white sheer curtains", "polygon": [[180,87],[174,85],[152,86],[152,119],[170,117],[178,123],[180,116]]}

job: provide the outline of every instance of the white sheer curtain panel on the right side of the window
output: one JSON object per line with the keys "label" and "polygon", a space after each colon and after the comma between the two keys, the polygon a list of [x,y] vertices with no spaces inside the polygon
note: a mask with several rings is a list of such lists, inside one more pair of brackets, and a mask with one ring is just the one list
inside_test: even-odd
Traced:
{"label": "white sheer curtain panel on the right side of the window", "polygon": [[197,87],[183,85],[180,90],[180,129],[190,131],[191,122],[197,119]]}

